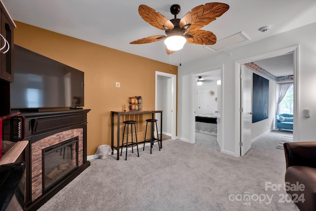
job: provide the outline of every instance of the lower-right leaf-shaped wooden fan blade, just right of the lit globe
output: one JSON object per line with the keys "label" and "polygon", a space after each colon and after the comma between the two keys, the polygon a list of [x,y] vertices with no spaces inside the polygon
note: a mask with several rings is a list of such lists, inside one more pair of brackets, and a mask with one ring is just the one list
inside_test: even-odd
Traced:
{"label": "lower-right leaf-shaped wooden fan blade, just right of the lit globe", "polygon": [[188,43],[211,45],[216,43],[216,36],[209,31],[197,30],[185,35]]}

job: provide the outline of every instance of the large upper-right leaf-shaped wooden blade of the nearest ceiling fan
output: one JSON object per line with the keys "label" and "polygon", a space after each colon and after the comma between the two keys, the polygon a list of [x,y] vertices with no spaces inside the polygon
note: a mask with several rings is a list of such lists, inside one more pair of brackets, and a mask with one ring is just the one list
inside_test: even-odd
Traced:
{"label": "large upper-right leaf-shaped wooden blade of the nearest ceiling fan", "polygon": [[229,5],[225,3],[206,3],[199,5],[185,14],[180,20],[180,28],[191,24],[186,30],[188,32],[198,30],[210,22],[216,20],[229,9]]}

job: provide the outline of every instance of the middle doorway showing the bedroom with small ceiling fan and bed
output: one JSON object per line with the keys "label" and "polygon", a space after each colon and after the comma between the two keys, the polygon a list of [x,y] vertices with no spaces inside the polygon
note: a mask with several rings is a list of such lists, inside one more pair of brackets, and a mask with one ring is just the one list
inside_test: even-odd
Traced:
{"label": "middle doorway showing the bedroom with small ceiling fan and bed", "polygon": [[[195,74],[193,78],[195,135],[192,143],[221,151],[222,68]],[[198,78],[202,81],[200,85],[197,84]]]}

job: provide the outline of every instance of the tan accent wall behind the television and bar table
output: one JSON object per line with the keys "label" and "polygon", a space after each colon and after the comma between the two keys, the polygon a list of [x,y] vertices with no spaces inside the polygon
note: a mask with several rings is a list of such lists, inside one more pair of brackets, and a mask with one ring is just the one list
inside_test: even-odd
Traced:
{"label": "tan accent wall behind the television and bar table", "polygon": [[15,44],[84,72],[84,109],[91,109],[87,155],[94,155],[99,145],[111,145],[111,111],[128,107],[129,96],[142,96],[143,110],[155,109],[155,71],[178,75],[177,66],[170,71],[170,64],[15,23]]}

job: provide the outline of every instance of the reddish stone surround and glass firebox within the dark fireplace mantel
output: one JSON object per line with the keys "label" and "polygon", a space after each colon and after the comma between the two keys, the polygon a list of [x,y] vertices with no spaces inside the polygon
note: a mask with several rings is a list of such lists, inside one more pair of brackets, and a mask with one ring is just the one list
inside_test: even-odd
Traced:
{"label": "reddish stone surround and glass firebox within the dark fireplace mantel", "polygon": [[[72,170],[75,170],[76,167],[82,165],[82,142],[83,129],[76,128],[52,134],[32,143],[32,201],[35,201],[43,193],[49,191],[50,187],[58,184],[60,180],[71,173]],[[75,152],[72,152],[73,150]],[[67,164],[63,158],[68,156],[66,152],[72,154],[70,158],[67,157],[67,159],[70,159],[70,163],[67,162],[69,164],[67,167],[75,167],[68,171],[68,173],[63,171],[56,174],[56,177],[52,176],[56,173],[52,172],[54,168],[57,168],[58,172],[60,169],[65,169],[65,165]],[[59,156],[60,154],[61,156]],[[48,157],[45,158],[45,156]],[[51,162],[50,159],[56,159],[56,163]],[[59,159],[61,160],[57,161]],[[61,163],[60,165],[62,166],[60,167],[58,162],[64,163]],[[46,167],[46,164],[48,167]],[[49,177],[52,177],[52,179],[49,179]]]}

